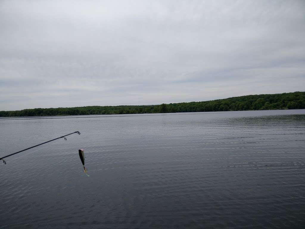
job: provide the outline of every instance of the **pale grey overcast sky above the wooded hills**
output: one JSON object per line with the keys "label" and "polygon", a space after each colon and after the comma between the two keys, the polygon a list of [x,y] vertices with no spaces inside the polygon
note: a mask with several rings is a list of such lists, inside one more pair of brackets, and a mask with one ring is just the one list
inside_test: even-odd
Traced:
{"label": "pale grey overcast sky above the wooded hills", "polygon": [[0,1],[0,110],[305,91],[305,1]]}

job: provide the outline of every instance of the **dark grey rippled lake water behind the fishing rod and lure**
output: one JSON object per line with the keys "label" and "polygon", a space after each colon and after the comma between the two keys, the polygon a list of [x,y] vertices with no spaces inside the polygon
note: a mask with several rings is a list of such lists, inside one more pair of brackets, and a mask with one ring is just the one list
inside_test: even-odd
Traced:
{"label": "dark grey rippled lake water behind the fishing rod and lure", "polygon": [[305,110],[0,119],[0,156],[77,130],[1,162],[0,228],[305,226]]}

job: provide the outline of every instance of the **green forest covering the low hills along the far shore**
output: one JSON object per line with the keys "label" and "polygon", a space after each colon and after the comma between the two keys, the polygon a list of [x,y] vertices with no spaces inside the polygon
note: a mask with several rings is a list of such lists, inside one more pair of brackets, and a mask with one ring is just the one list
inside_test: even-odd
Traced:
{"label": "green forest covering the low hills along the far shore", "polygon": [[35,108],[24,109],[21,111],[0,111],[0,117],[113,115],[279,109],[305,109],[305,92],[248,95],[203,102],[170,103],[160,105]]}

